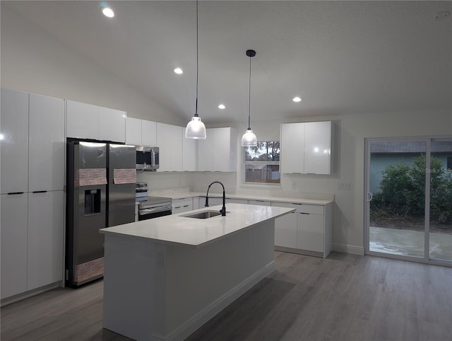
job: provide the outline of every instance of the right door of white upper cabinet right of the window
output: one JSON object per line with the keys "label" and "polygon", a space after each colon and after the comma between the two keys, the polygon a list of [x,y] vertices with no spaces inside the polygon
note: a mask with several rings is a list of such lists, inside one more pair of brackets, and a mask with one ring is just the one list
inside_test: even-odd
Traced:
{"label": "right door of white upper cabinet right of the window", "polygon": [[304,173],[331,173],[331,121],[304,124]]}

